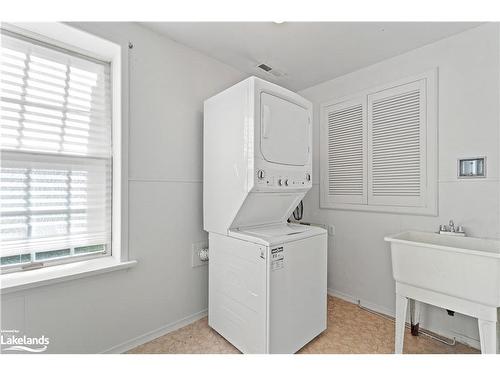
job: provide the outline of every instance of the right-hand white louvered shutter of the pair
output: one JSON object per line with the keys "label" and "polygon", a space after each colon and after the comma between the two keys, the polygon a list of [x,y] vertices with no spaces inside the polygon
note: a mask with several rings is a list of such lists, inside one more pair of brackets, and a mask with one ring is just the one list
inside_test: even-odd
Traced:
{"label": "right-hand white louvered shutter of the pair", "polygon": [[368,95],[370,205],[425,204],[425,95],[425,79]]}

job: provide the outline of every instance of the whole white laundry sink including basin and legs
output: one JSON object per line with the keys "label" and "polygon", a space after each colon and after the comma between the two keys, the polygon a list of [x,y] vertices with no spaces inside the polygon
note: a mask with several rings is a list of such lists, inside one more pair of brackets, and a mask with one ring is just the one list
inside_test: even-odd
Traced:
{"label": "whole white laundry sink including basin and legs", "polygon": [[396,282],[396,352],[402,352],[407,301],[413,299],[477,317],[481,351],[496,353],[500,241],[415,231],[385,240]]}

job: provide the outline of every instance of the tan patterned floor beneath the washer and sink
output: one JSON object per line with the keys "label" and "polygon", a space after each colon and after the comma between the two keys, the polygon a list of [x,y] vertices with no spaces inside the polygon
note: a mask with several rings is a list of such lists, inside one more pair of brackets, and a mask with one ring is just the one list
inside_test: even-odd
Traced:
{"label": "tan patterned floor beneath the washer and sink", "polygon": [[[425,336],[405,333],[405,353],[478,353],[457,343],[448,346]],[[328,297],[328,329],[299,353],[393,353],[394,323],[338,298]],[[211,329],[207,318],[140,345],[129,353],[239,353]]]}

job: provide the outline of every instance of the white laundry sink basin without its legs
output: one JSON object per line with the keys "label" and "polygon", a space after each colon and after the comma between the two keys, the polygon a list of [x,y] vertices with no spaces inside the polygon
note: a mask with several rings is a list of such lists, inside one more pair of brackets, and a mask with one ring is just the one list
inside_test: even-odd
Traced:
{"label": "white laundry sink basin without its legs", "polygon": [[500,306],[500,241],[426,232],[385,240],[397,282]]}

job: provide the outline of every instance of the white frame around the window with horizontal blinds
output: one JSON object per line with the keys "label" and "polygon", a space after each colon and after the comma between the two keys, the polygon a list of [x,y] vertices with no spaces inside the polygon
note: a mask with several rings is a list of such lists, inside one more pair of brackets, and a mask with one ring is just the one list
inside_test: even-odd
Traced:
{"label": "white frame around the window with horizontal blinds", "polygon": [[[111,246],[101,253],[87,253],[48,259],[33,260],[30,263],[4,265],[1,274],[17,274],[52,266],[74,265],[83,261],[98,258],[112,259],[116,262],[127,261],[128,257],[122,251],[122,48],[120,45],[81,31],[63,23],[3,23],[2,29],[16,33],[26,38],[34,39],[43,44],[68,50],[90,59],[97,59],[110,64],[111,88]],[[29,265],[32,265],[31,267]]]}

